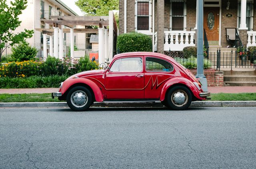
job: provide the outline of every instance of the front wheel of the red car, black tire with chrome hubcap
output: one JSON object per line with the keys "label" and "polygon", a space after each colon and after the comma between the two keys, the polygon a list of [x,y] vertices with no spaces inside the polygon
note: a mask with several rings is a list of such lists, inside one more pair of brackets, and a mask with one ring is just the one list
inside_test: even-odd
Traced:
{"label": "front wheel of the red car, black tire with chrome hubcap", "polygon": [[88,88],[76,86],[67,94],[68,106],[74,111],[86,111],[92,105],[92,93]]}

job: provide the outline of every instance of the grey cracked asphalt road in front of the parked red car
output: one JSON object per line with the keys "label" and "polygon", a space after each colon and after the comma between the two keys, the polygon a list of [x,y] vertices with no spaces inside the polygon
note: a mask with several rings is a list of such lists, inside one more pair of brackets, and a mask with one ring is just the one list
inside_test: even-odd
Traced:
{"label": "grey cracked asphalt road in front of the parked red car", "polygon": [[0,108],[0,168],[256,168],[256,107]]}

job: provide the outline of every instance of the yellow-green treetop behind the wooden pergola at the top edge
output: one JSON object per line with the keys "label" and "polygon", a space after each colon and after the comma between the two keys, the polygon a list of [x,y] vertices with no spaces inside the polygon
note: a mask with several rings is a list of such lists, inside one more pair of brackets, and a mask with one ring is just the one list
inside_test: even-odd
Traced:
{"label": "yellow-green treetop behind the wooden pergola at the top edge", "polygon": [[78,6],[86,15],[89,16],[108,16],[108,11],[118,10],[118,0],[78,0]]}

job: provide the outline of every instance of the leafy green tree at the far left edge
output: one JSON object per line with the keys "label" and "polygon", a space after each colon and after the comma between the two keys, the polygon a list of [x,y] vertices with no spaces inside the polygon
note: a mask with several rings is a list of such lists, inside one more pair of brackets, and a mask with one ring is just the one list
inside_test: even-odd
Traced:
{"label": "leafy green tree at the far left edge", "polygon": [[24,29],[20,33],[13,32],[20,26],[21,21],[18,16],[22,14],[22,10],[26,9],[26,4],[27,0],[15,0],[8,6],[6,0],[0,0],[0,62],[6,48],[32,37],[33,30]]}

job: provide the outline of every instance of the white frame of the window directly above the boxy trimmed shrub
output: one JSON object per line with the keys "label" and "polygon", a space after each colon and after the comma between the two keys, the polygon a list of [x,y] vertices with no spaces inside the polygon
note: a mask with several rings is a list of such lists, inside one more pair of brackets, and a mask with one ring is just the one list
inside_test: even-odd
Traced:
{"label": "white frame of the window directly above the boxy trimmed shrub", "polygon": [[[137,29],[138,2],[148,2],[148,30]],[[146,35],[152,35],[152,0],[135,0],[135,31]]]}

